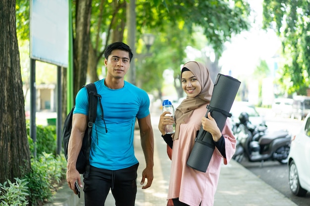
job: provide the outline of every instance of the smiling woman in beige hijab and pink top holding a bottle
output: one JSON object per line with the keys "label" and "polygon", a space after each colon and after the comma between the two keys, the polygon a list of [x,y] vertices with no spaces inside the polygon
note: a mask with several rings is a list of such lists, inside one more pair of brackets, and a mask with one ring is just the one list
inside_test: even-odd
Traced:
{"label": "smiling woman in beige hijab and pink top holding a bottle", "polygon": [[[173,201],[174,206],[213,206],[221,161],[227,165],[231,160],[236,139],[228,120],[220,131],[210,113],[205,117],[213,91],[207,67],[199,62],[187,62],[181,70],[181,79],[187,97],[176,108],[175,133],[165,133],[165,126],[174,123],[173,117],[165,116],[168,112],[160,115],[158,124],[168,149],[172,148],[172,154],[168,151],[171,154],[168,205]],[[201,126],[212,135],[216,147],[206,172],[186,165]]]}

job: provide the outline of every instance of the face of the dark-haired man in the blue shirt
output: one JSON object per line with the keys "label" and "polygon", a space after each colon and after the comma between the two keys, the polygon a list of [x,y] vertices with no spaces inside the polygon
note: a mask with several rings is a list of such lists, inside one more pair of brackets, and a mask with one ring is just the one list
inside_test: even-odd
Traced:
{"label": "face of the dark-haired man in the blue shirt", "polygon": [[107,59],[104,59],[107,74],[112,78],[123,79],[130,67],[129,52],[113,50]]}

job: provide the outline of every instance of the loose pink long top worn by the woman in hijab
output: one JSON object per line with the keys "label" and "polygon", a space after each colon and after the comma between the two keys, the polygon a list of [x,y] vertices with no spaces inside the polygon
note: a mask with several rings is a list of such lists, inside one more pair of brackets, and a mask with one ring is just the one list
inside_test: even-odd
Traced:
{"label": "loose pink long top worn by the woman in hijab", "polygon": [[180,125],[179,138],[174,140],[171,158],[171,172],[168,199],[179,198],[189,206],[213,206],[221,161],[225,165],[231,160],[236,149],[236,139],[229,127],[228,120],[222,130],[225,138],[226,158],[215,147],[206,172],[195,170],[186,165],[195,143],[201,120],[207,113],[206,105],[197,108],[189,121]]}

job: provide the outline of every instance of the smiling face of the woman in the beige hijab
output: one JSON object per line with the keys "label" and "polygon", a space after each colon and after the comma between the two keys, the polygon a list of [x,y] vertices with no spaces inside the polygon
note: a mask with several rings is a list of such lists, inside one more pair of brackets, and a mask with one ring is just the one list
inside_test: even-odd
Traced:
{"label": "smiling face of the woman in the beige hijab", "polygon": [[191,98],[196,97],[202,90],[200,83],[191,71],[182,73],[182,88]]}

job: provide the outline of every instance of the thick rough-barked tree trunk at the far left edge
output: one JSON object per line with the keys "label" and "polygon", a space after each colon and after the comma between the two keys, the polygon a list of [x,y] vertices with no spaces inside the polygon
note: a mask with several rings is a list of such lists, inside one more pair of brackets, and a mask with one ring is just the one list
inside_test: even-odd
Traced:
{"label": "thick rough-barked tree trunk at the far left edge", "polygon": [[0,183],[31,169],[15,0],[0,0]]}

